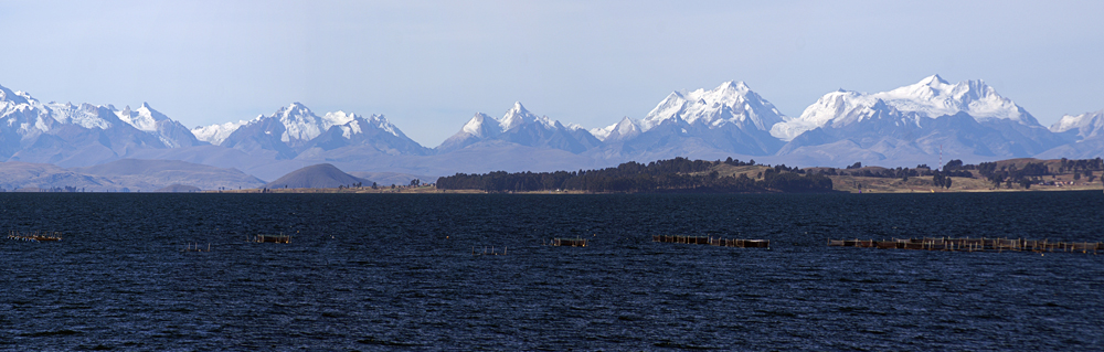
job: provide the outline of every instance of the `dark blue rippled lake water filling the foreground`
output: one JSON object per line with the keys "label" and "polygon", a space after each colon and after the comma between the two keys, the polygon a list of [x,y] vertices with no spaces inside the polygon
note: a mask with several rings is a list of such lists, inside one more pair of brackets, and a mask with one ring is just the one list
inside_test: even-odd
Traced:
{"label": "dark blue rippled lake water filling the foreground", "polygon": [[1102,215],[1100,191],[0,193],[0,228],[64,234],[0,242],[0,349],[1101,350],[1104,255],[826,244],[1098,242]]}

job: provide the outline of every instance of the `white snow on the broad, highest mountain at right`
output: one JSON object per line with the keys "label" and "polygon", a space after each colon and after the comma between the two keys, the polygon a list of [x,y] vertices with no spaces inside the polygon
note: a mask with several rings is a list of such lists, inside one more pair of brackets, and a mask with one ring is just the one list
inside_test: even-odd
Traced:
{"label": "white snow on the broad, highest mountain at right", "polygon": [[1023,108],[980,79],[951,84],[940,75],[932,75],[889,92],[868,94],[840,89],[825,94],[805,108],[800,117],[773,126],[771,135],[788,141],[829,122],[850,122],[878,102],[921,118],[967,113],[979,122],[1008,119],[1028,126],[1039,124]]}

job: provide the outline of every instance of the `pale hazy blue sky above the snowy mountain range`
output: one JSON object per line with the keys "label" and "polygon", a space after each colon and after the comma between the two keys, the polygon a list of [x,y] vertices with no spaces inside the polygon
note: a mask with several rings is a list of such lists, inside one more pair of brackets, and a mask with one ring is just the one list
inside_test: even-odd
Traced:
{"label": "pale hazy blue sky above the snowy mountain range", "polygon": [[435,147],[513,102],[586,128],[744,81],[788,116],[845,88],[984,79],[1050,126],[1104,109],[1104,1],[7,1],[0,85],[188,127],[383,114]]}

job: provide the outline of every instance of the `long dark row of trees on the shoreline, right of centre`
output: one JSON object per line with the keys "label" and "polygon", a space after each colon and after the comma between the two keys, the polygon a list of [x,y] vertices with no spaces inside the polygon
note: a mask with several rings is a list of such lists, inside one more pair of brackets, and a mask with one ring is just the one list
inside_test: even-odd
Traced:
{"label": "long dark row of trees on the shoreline, right of centre", "polygon": [[[535,192],[572,190],[588,192],[698,192],[698,193],[754,193],[754,192],[828,192],[831,179],[822,174],[803,175],[777,166],[765,170],[761,180],[746,174],[720,175],[710,171],[722,161],[675,158],[643,164],[626,162],[616,168],[599,170],[516,172],[497,171],[485,174],[457,173],[437,180],[442,190],[484,190],[488,192]],[[730,166],[754,166],[731,158]]]}

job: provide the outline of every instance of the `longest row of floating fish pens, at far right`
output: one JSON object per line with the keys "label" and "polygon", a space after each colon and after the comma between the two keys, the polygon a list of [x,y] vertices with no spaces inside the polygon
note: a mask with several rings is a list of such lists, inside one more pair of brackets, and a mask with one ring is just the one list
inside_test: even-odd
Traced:
{"label": "longest row of floating fish pens, at far right", "polygon": [[829,247],[858,247],[879,249],[920,249],[920,250],[1016,250],[1016,252],[1081,252],[1093,253],[1104,250],[1101,242],[1053,242],[1049,239],[1023,238],[893,238],[892,241],[874,239],[828,239]]}

